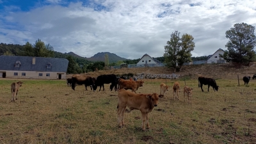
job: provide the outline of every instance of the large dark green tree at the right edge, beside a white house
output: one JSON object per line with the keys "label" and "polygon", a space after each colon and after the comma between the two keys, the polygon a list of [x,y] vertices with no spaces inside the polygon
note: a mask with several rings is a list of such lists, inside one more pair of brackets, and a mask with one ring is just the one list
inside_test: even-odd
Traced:
{"label": "large dark green tree at the right edge, beside a white house", "polygon": [[227,50],[224,54],[220,54],[221,58],[226,61],[241,63],[248,65],[248,63],[256,60],[254,47],[256,45],[256,36],[254,34],[254,26],[246,23],[234,24],[234,28],[226,31],[226,38],[228,42],[225,45]]}

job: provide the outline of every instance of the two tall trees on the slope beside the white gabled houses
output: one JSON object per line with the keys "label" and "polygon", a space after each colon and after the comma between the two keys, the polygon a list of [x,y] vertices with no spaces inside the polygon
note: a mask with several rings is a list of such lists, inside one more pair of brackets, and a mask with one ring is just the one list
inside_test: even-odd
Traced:
{"label": "two tall trees on the slope beside the white gabled houses", "polygon": [[[248,65],[256,61],[255,45],[256,38],[254,34],[255,27],[246,23],[234,24],[234,28],[226,31],[228,42],[225,45],[227,50],[220,57],[228,62],[241,63]],[[191,51],[194,50],[195,42],[192,35],[175,31],[172,33],[170,41],[164,46],[164,62],[167,67],[181,70],[182,64],[191,61]],[[207,57],[207,56],[205,56]]]}

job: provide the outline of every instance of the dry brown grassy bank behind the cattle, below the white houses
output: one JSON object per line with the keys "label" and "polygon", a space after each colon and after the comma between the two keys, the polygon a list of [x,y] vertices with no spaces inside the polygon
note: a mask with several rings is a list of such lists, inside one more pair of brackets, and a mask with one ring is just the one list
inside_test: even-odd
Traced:
{"label": "dry brown grassy bank behind the cattle, below the white houses", "polygon": [[[113,70],[99,70],[99,72],[88,72],[86,75],[97,77],[102,74],[173,74],[173,68],[167,67],[141,67],[141,68],[121,68]],[[237,67],[232,63],[211,64],[211,65],[184,65],[179,74],[180,78],[197,79],[198,76],[212,77],[214,79],[243,79],[243,76],[253,76],[256,74],[256,63],[252,63],[250,67]],[[71,77],[68,75],[67,77]],[[243,84],[243,81],[240,82]]]}

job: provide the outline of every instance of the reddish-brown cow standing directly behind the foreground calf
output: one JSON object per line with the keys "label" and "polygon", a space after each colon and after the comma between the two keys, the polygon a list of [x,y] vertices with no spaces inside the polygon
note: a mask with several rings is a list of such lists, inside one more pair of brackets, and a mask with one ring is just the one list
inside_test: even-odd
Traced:
{"label": "reddish-brown cow standing directly behind the foreground calf", "polygon": [[132,92],[136,93],[136,90],[140,86],[143,86],[144,81],[130,81],[125,79],[119,79],[118,80],[118,86],[119,90],[125,89],[125,90],[132,90]]}

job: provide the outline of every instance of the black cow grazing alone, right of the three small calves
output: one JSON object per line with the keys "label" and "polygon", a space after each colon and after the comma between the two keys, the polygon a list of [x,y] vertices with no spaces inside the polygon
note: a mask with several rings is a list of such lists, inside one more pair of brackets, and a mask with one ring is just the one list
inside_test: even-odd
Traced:
{"label": "black cow grazing alone, right of the three small calves", "polygon": [[212,86],[214,92],[215,90],[218,91],[219,86],[216,84],[216,81],[212,78],[202,77],[202,76],[198,77],[198,87],[201,87],[202,92],[204,92],[203,84],[208,85],[208,92],[209,92],[210,86]]}

